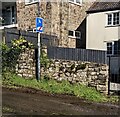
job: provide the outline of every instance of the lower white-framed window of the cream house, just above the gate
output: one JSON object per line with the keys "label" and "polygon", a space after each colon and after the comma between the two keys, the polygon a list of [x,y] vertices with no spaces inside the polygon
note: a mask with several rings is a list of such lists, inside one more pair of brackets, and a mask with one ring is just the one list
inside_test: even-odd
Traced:
{"label": "lower white-framed window of the cream house, just above the gate", "polygon": [[107,43],[107,54],[108,55],[120,54],[120,41],[108,42]]}

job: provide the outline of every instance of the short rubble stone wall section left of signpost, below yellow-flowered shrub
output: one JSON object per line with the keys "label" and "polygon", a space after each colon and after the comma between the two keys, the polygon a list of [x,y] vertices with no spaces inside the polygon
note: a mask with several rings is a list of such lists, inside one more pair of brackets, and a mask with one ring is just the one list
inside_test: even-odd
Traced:
{"label": "short rubble stone wall section left of signpost, below yellow-flowered shrub", "polygon": [[33,78],[35,77],[35,51],[34,49],[26,49],[20,53],[16,73],[21,77]]}

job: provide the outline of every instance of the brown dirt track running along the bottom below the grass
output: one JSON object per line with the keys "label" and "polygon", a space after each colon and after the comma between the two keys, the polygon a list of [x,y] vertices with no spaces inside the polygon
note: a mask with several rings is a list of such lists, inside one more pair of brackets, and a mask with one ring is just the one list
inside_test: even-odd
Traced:
{"label": "brown dirt track running along the bottom below the grass", "polygon": [[15,115],[118,115],[118,105],[86,102],[74,96],[52,95],[32,89],[2,89],[3,107]]}

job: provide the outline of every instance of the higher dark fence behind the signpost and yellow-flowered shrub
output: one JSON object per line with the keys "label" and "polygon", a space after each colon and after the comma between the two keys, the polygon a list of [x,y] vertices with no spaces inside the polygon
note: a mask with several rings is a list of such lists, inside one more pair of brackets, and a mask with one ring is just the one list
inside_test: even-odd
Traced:
{"label": "higher dark fence behind the signpost and yellow-flowered shrub", "polygon": [[[11,40],[19,39],[20,36],[24,37],[27,41],[34,44],[37,47],[38,35],[37,33],[28,32],[24,30],[18,30],[15,28],[5,28],[5,43],[10,46]],[[47,46],[58,46],[58,38],[54,35],[41,34],[41,43]]]}

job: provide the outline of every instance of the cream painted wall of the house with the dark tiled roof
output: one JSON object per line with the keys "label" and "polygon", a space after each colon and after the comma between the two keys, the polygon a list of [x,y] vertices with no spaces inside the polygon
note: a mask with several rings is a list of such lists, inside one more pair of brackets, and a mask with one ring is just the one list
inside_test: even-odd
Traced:
{"label": "cream painted wall of the house with the dark tiled roof", "polygon": [[[118,11],[118,10],[117,10]],[[116,12],[98,12],[88,14],[86,31],[86,48],[106,50],[106,41],[120,39],[120,26],[107,27],[107,13]]]}

